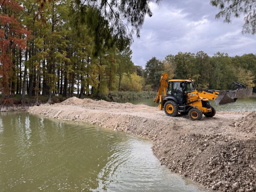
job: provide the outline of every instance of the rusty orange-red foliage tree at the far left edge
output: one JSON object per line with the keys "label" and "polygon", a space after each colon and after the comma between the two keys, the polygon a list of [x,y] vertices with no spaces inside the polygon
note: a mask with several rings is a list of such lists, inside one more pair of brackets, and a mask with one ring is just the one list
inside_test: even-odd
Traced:
{"label": "rusty orange-red foliage tree at the far left edge", "polygon": [[10,98],[10,78],[15,50],[27,48],[30,32],[17,19],[22,7],[14,0],[0,0],[0,88],[4,99]]}

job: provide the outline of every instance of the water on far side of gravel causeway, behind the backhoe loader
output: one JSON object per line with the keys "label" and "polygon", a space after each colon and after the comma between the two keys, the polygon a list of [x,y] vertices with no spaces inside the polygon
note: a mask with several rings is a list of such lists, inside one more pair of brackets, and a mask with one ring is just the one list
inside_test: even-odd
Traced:
{"label": "water on far side of gravel causeway, behind the backhoe loader", "polygon": [[[154,103],[154,99],[142,99],[125,101],[135,105],[144,104],[151,107],[157,107],[158,104]],[[210,100],[210,103],[217,111],[256,111],[256,97],[239,98],[234,103],[226,105],[216,105],[215,101]]]}

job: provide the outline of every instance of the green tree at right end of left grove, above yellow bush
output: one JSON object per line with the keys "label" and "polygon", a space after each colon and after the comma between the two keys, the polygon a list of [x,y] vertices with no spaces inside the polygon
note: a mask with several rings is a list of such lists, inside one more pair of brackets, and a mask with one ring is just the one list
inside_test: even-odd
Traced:
{"label": "green tree at right end of left grove, above yellow bush", "polygon": [[134,64],[132,62],[132,50],[130,47],[126,47],[123,51],[116,54],[117,62],[117,75],[119,76],[118,91],[120,91],[121,81],[123,75],[130,76],[135,71]]}

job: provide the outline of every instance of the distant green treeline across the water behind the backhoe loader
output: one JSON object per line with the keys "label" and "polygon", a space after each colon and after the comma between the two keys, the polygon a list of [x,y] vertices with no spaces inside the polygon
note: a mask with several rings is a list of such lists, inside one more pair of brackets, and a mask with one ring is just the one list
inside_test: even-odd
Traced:
{"label": "distant green treeline across the water behind the backhoe loader", "polygon": [[233,81],[238,81],[256,91],[256,55],[252,53],[231,57],[217,52],[210,57],[203,51],[179,52],[167,55],[164,60],[152,57],[145,69],[137,67],[137,74],[144,76],[152,87],[157,87],[163,72],[169,79],[192,78],[201,88],[226,90]]}

